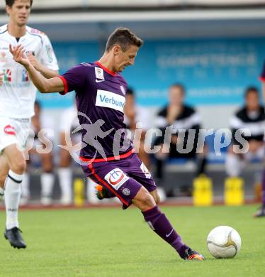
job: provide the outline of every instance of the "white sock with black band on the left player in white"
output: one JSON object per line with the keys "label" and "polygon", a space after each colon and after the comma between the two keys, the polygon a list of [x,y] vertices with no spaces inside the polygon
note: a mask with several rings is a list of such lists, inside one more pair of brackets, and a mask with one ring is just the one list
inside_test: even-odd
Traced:
{"label": "white sock with black band on the left player in white", "polygon": [[6,229],[18,227],[18,205],[21,197],[23,175],[9,170],[5,182]]}

